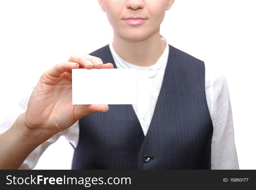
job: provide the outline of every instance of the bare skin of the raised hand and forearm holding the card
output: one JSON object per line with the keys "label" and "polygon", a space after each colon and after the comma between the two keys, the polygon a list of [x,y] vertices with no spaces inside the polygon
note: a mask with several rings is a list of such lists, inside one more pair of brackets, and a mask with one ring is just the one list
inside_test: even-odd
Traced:
{"label": "bare skin of the raised hand and forearm holding the card", "polygon": [[[93,65],[86,64],[90,60]],[[97,60],[101,64],[97,64]],[[109,109],[108,105],[72,105],[71,69],[112,69],[100,58],[72,55],[40,77],[29,99],[26,112],[0,135],[0,169],[19,169],[26,157],[40,144],[61,132],[83,116]]]}

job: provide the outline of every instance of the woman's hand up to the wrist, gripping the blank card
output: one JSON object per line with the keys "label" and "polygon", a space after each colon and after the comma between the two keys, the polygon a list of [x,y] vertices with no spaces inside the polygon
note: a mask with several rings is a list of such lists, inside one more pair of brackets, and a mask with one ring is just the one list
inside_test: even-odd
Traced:
{"label": "woman's hand up to the wrist, gripping the blank card", "polygon": [[[89,65],[90,62],[93,65]],[[42,74],[32,92],[27,110],[23,114],[25,126],[52,136],[66,130],[83,116],[109,109],[106,104],[72,105],[71,69],[78,68],[111,69],[114,67],[111,63],[103,64],[100,58],[77,54],[72,55],[67,62],[56,64]],[[93,79],[86,82],[93,83]]]}

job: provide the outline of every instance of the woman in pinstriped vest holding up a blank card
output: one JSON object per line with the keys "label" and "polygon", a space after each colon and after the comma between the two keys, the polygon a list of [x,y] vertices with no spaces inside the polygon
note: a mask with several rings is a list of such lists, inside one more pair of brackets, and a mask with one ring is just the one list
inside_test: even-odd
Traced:
{"label": "woman in pinstriped vest holding up a blank card", "polygon": [[[72,169],[239,169],[225,78],[159,33],[174,0],[98,2],[113,43],[41,76],[26,111],[0,135],[1,169],[33,168],[29,155],[60,135],[75,148]],[[137,68],[138,103],[72,105],[74,68]]]}

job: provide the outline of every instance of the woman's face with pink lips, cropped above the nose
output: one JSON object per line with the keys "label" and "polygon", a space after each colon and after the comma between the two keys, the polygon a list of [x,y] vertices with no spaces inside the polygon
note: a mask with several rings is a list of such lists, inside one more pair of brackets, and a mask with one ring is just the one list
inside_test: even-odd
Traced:
{"label": "woman's face with pink lips, cropped above the nose", "polygon": [[[159,31],[165,11],[174,0],[98,0],[106,12],[114,35],[127,41],[141,41]],[[127,19],[141,17],[143,19]]]}

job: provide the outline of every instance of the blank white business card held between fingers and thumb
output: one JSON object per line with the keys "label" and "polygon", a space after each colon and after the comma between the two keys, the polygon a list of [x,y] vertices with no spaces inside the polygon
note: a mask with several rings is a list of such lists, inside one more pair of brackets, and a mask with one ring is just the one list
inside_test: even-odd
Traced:
{"label": "blank white business card held between fingers and thumb", "polygon": [[72,104],[137,104],[137,69],[72,69]]}

